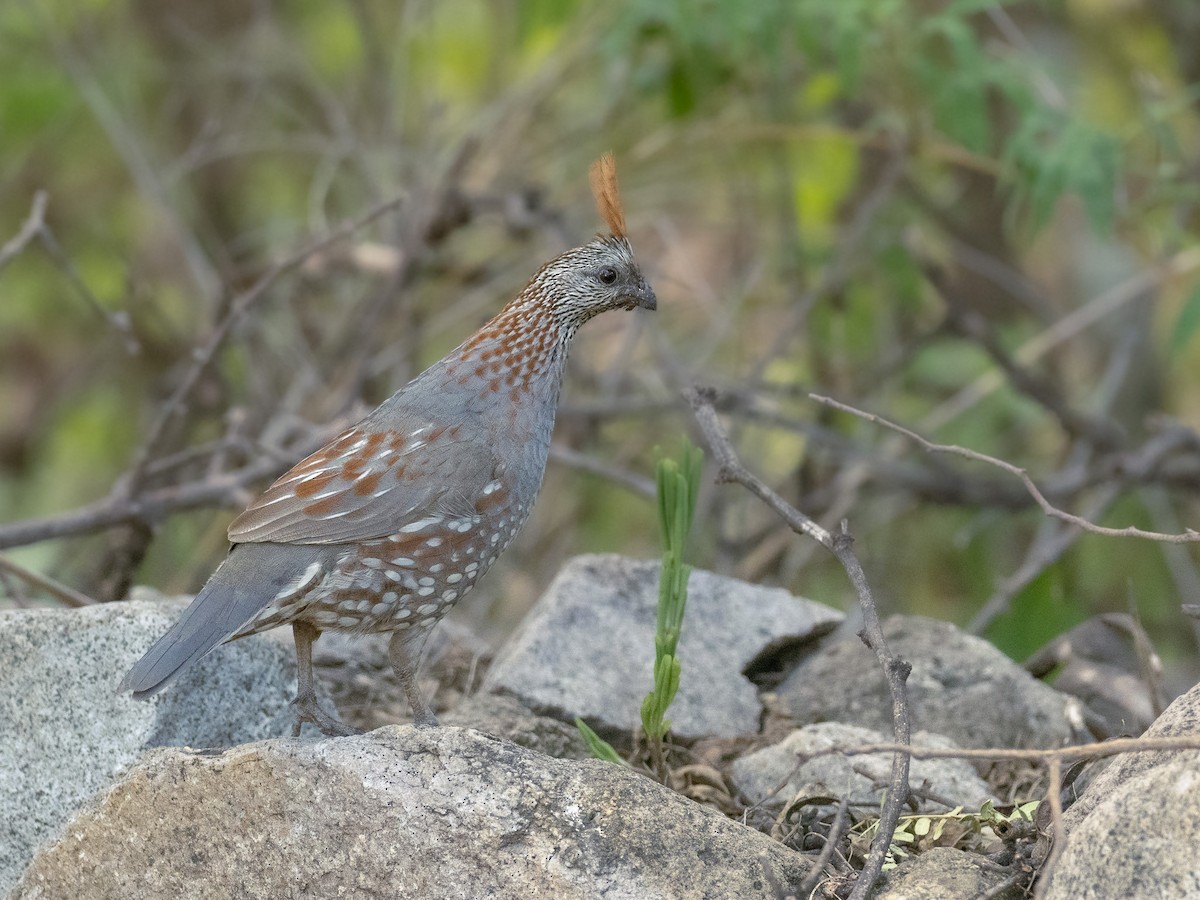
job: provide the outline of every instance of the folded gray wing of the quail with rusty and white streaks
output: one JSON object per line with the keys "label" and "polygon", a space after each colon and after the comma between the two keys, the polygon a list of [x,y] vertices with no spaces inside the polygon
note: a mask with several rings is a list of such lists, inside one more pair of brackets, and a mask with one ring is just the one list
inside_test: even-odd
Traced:
{"label": "folded gray wing of the quail with rusty and white streaks", "polygon": [[229,540],[350,544],[426,517],[474,516],[503,467],[491,445],[464,431],[360,422],[280,476],[230,523]]}

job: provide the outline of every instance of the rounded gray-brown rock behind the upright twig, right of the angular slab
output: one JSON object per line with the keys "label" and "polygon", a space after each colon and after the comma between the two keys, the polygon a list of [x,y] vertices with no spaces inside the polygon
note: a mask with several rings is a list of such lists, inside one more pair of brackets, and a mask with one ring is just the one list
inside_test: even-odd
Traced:
{"label": "rounded gray-brown rock behind the upright twig, right of the angular slab", "polygon": [[[892,654],[912,664],[914,730],[966,748],[1051,748],[1073,743],[1082,728],[1078,700],[949,623],[895,616],[883,634]],[[833,720],[892,732],[892,695],[875,654],[857,636],[821,648],[776,692],[802,725]]]}

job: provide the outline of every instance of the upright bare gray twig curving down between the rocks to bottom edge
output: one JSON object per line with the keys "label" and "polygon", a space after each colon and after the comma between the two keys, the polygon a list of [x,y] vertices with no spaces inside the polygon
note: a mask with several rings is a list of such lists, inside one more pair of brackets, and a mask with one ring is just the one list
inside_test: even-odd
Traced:
{"label": "upright bare gray twig curving down between the rocks to bottom edge", "polygon": [[[871,594],[870,584],[863,571],[862,564],[854,556],[853,538],[846,523],[836,533],[830,533],[792,506],[787,500],[775,493],[764,481],[755,476],[746,469],[737,457],[728,434],[721,426],[716,416],[715,391],[708,389],[691,389],[685,394],[696,415],[696,421],[704,432],[704,439],[713,456],[719,464],[718,481],[734,481],[756,497],[762,499],[774,510],[797,534],[806,534],[827,547],[841,563],[854,586],[858,595],[859,607],[863,613],[863,630],[859,632],[863,642],[870,647],[883,668],[888,689],[892,692],[892,721],[896,743],[907,744],[912,724],[908,716],[908,701],[905,690],[905,680],[908,678],[911,666],[907,662],[895,659],[888,652],[887,642],[883,638],[883,629],[880,625],[878,612],[875,606],[875,598]],[[866,863],[858,875],[851,900],[865,900],[871,887],[878,878],[887,858],[888,847],[892,845],[892,835],[895,833],[896,823],[900,820],[900,810],[908,797],[908,762],[906,754],[893,754],[892,779],[888,786],[887,797],[883,800],[883,809],[880,812],[880,829],[871,842],[871,851],[866,857]]]}

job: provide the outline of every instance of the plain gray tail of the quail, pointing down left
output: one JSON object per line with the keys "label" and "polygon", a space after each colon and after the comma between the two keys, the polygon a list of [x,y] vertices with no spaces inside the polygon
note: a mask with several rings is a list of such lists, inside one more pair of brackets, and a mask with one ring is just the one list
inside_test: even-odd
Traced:
{"label": "plain gray tail of the quail, pointing down left", "polygon": [[134,700],[152,697],[264,610],[320,550],[277,544],[234,547],[179,622],[125,673],[118,692],[133,691]]}

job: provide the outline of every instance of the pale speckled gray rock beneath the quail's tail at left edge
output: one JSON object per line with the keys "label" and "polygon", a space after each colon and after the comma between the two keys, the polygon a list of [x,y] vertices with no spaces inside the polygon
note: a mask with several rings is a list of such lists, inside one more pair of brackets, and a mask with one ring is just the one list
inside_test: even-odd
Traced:
{"label": "pale speckled gray rock beneath the quail's tail at left edge", "polygon": [[186,606],[139,600],[0,612],[0,894],[40,844],[146,748],[288,733],[295,662],[281,642],[218,648],[151,701],[116,684]]}

